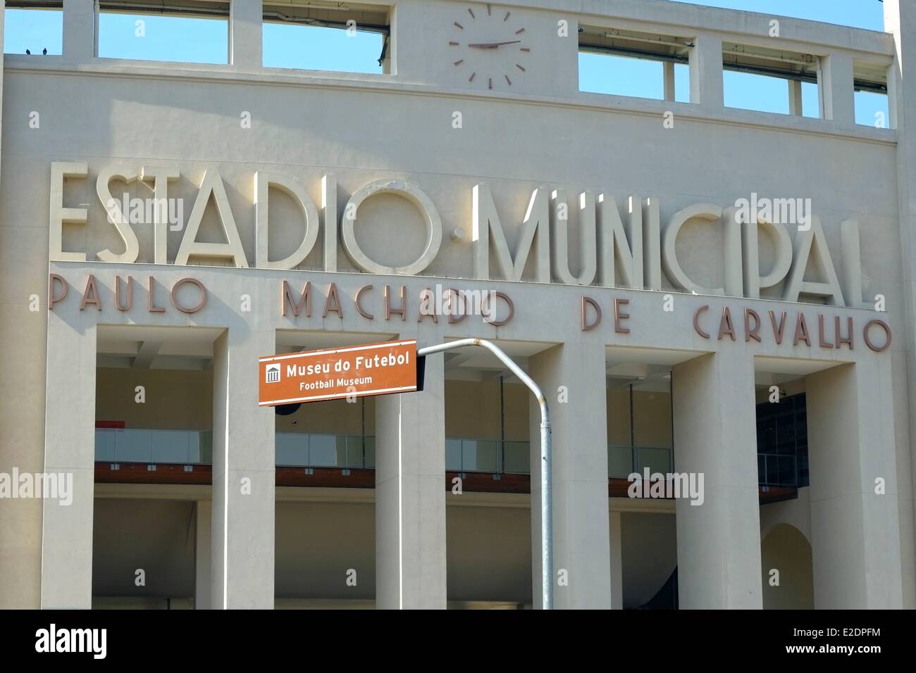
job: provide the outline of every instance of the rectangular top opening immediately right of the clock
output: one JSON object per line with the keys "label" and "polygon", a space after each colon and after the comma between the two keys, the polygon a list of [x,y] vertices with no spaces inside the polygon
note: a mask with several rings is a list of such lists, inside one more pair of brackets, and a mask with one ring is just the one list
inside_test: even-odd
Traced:
{"label": "rectangular top opening immediately right of the clock", "polygon": [[579,91],[690,102],[689,38],[579,27]]}

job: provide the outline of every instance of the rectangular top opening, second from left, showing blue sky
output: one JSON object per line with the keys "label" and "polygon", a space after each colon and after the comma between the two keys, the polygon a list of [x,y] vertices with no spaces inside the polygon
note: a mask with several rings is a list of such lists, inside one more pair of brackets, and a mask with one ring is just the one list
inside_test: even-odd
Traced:
{"label": "rectangular top opening, second from left, showing blue sky", "polygon": [[229,62],[229,3],[103,0],[98,39],[103,59],[224,65]]}

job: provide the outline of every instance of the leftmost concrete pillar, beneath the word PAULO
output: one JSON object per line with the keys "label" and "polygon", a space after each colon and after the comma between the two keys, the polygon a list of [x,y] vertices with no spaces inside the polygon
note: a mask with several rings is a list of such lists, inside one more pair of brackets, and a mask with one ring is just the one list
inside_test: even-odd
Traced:
{"label": "leftmost concrete pillar, beneath the word PAULO", "polygon": [[73,301],[48,317],[44,471],[71,474],[73,493],[70,505],[44,501],[42,608],[88,610],[93,603],[96,328],[83,319]]}

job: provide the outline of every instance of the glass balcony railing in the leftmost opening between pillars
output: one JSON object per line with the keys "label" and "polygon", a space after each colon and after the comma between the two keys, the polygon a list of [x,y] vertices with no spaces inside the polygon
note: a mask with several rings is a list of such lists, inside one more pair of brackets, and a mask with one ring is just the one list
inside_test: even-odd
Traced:
{"label": "glass balcony railing in the leftmost opening between pillars", "polygon": [[95,429],[98,462],[213,463],[213,431],[158,429]]}

